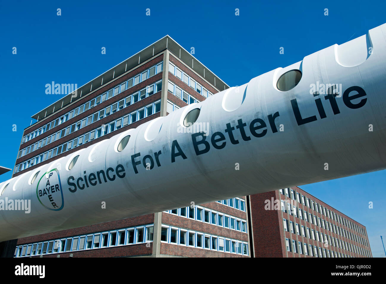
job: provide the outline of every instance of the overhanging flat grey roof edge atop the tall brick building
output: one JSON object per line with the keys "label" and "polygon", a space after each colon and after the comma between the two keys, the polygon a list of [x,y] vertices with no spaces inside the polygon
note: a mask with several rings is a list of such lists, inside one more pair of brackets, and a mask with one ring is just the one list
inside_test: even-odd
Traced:
{"label": "overhanging flat grey roof edge atop the tall brick building", "polygon": [[[79,87],[78,89],[76,89],[74,94],[70,93],[65,95],[63,98],[57,100],[53,104],[42,109],[31,117],[33,119],[36,119],[37,121],[44,119],[45,117],[53,114],[54,112],[59,111],[63,107],[66,107],[68,104],[79,100],[81,97],[84,97],[85,95],[89,94],[100,86],[107,84],[113,79],[119,77],[126,71],[143,63],[144,61],[153,57],[155,54],[161,53],[165,49],[169,49],[171,53],[180,58],[181,61],[191,67],[196,73],[201,75],[201,77],[204,77],[205,80],[215,86],[218,90],[222,91],[229,88],[229,86],[225,82],[223,82],[218,76],[216,76],[205,65],[203,65],[199,60],[197,60],[190,52],[188,52],[185,48],[183,48],[176,41],[174,41],[174,39],[172,39],[169,35],[166,35],[155,43],[150,44],[138,53],[122,61],[118,65],[115,65],[113,68],[94,78],[90,82],[87,82],[83,86]],[[76,96],[73,97],[75,94]]]}

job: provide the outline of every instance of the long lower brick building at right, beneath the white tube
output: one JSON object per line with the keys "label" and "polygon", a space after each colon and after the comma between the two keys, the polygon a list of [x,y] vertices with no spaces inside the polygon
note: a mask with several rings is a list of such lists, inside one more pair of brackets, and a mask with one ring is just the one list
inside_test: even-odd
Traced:
{"label": "long lower brick building at right, beneath the white tube", "polygon": [[365,226],[299,187],[250,200],[255,257],[372,257]]}

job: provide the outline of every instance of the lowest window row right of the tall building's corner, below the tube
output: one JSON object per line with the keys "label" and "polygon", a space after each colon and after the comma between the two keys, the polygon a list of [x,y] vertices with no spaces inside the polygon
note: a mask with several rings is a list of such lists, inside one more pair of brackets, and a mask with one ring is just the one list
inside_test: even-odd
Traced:
{"label": "lowest window row right of the tall building's corner, below the tube", "polygon": [[178,228],[167,224],[162,224],[161,242],[248,255],[248,243],[245,241]]}

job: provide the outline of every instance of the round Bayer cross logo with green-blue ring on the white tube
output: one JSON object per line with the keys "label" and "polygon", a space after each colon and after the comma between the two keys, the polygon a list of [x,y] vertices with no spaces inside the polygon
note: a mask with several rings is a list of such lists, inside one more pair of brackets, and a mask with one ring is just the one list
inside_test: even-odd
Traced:
{"label": "round Bayer cross logo with green-blue ring on the white tube", "polygon": [[54,168],[42,175],[36,187],[36,196],[47,209],[59,211],[63,208],[63,192],[58,169]]}

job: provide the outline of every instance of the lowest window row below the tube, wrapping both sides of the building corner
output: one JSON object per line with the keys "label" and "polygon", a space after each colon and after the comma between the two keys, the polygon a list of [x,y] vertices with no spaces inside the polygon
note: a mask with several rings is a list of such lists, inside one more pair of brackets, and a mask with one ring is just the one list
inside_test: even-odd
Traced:
{"label": "lowest window row below the tube, wrapping both sides of the building corner", "polygon": [[[57,240],[29,243],[16,247],[14,257],[135,245],[153,241],[154,224],[141,225]],[[248,243],[162,224],[161,242],[220,252],[248,255]]]}

